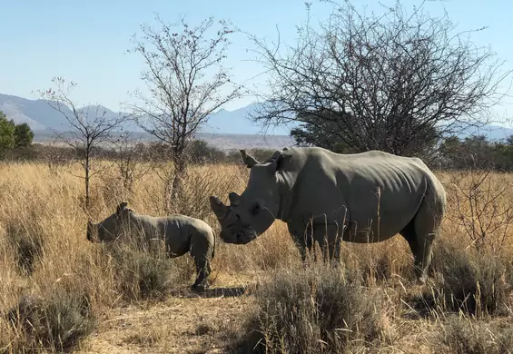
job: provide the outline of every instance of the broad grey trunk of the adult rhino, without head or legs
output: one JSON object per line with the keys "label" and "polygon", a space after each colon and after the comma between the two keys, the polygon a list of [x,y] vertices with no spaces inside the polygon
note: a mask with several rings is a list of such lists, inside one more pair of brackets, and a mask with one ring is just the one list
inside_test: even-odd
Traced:
{"label": "broad grey trunk of the adult rhino, without head or legs", "polygon": [[[352,228],[369,226],[380,238],[402,230],[415,216],[429,185],[438,180],[419,159],[386,152],[338,154],[321,148],[301,151],[292,212],[319,215]],[[379,229],[376,228],[380,220]]]}

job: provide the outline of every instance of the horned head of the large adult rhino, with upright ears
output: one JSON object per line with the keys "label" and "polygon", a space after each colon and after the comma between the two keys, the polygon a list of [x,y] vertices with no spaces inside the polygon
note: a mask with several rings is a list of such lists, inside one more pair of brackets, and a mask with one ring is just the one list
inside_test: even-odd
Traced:
{"label": "horned head of the large adult rhino, with upright ears", "polygon": [[244,150],[241,153],[244,164],[251,169],[244,192],[230,192],[229,206],[216,196],[210,197],[212,211],[221,224],[220,237],[226,243],[245,244],[269,229],[280,210],[276,172],[291,158],[290,154],[277,151],[268,161],[258,162]]}

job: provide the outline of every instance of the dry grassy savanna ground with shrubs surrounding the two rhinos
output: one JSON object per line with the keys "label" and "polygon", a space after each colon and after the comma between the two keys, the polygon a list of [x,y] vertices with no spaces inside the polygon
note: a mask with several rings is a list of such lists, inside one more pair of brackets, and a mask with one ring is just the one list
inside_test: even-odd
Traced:
{"label": "dry grassy savanna ground with shrubs surrounding the two rhinos", "polygon": [[[86,240],[75,167],[0,165],[0,352],[505,353],[513,350],[513,176],[436,172],[448,214],[426,285],[400,236],[343,242],[338,270],[303,270],[285,225],[250,244],[219,238],[212,289],[189,290],[192,259]],[[219,225],[208,204],[242,192],[239,165],[192,167],[179,210]],[[123,190],[115,170],[94,177],[90,217],[119,202],[163,214],[151,172]]]}

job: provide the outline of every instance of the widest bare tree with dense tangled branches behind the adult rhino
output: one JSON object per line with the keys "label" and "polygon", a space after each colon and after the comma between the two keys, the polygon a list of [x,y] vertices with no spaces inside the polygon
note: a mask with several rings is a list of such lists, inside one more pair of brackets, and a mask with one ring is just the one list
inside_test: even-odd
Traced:
{"label": "widest bare tree with dense tangled branches behind the adult rhino", "polygon": [[319,30],[299,28],[286,51],[252,36],[271,90],[252,118],[303,133],[330,127],[335,143],[353,151],[424,152],[441,136],[490,123],[511,74],[472,44],[475,31],[454,30],[447,15],[426,15],[422,5],[408,14],[397,2],[378,16],[346,0]]}

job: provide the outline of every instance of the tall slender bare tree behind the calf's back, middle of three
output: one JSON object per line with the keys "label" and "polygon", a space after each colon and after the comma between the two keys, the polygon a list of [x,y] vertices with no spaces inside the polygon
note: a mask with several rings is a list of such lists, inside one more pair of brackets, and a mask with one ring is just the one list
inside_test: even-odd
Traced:
{"label": "tall slender bare tree behind the calf's back, middle of three", "polygon": [[[134,119],[147,133],[171,146],[174,173],[170,190],[179,197],[186,173],[186,147],[194,133],[224,103],[239,97],[223,66],[228,36],[226,22],[213,29],[211,18],[200,25],[166,25],[157,15],[158,30],[142,25],[143,38],[133,36],[134,53],[143,57],[142,78],[149,94],[136,93]],[[210,34],[210,31],[214,31]],[[170,196],[171,197],[171,196]]]}

